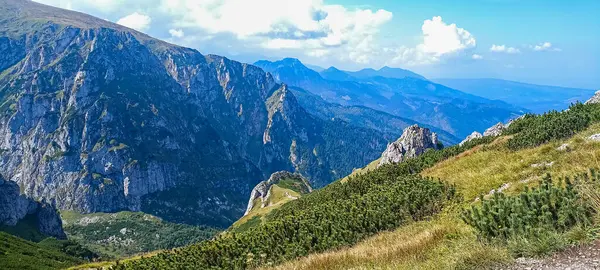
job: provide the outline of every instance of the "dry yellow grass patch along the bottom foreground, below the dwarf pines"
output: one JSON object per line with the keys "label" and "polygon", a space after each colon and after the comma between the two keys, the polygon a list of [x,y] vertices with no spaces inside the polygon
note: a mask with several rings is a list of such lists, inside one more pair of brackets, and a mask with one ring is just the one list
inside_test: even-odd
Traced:
{"label": "dry yellow grass patch along the bottom foreground, below the dwarf pines", "polygon": [[359,244],[309,255],[271,270],[456,269],[510,261],[505,249],[483,245],[469,226],[442,214],[380,233]]}

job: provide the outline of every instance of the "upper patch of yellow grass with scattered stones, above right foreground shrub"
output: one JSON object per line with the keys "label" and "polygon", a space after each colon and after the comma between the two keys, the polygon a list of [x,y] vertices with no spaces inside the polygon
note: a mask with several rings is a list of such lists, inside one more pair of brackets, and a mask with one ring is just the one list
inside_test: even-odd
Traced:
{"label": "upper patch of yellow grass with scattered stones, above right foreground shrub", "polygon": [[[535,184],[547,173],[556,177],[572,176],[600,167],[600,143],[587,139],[596,133],[600,133],[600,125],[568,140],[520,151],[506,149],[506,139],[500,138],[488,146],[441,162],[422,175],[456,184],[466,200],[487,194],[505,183],[511,184],[508,192],[518,191],[525,185]],[[569,143],[571,150],[556,149],[563,143]],[[551,166],[532,167],[551,162]]]}

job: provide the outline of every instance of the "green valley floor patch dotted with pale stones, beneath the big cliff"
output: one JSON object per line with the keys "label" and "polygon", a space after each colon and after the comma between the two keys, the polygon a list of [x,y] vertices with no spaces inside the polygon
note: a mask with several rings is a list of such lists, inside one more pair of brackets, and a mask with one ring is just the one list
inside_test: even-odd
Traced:
{"label": "green valley floor patch dotted with pale stones, beneath the big cliff", "polygon": [[[63,211],[69,239],[104,258],[122,258],[158,249],[169,249],[212,237],[212,228],[175,224],[137,212],[81,215]],[[125,229],[124,233],[121,230]]]}

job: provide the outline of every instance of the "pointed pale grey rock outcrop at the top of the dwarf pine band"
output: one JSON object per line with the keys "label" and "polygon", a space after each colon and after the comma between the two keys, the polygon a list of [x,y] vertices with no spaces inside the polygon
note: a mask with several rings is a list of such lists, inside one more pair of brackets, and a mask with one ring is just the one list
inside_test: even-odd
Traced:
{"label": "pointed pale grey rock outcrop at the top of the dwarf pine band", "polygon": [[402,136],[397,141],[388,144],[377,166],[399,163],[408,158],[417,157],[427,149],[437,148],[438,140],[435,133],[428,128],[412,125],[404,129]]}

